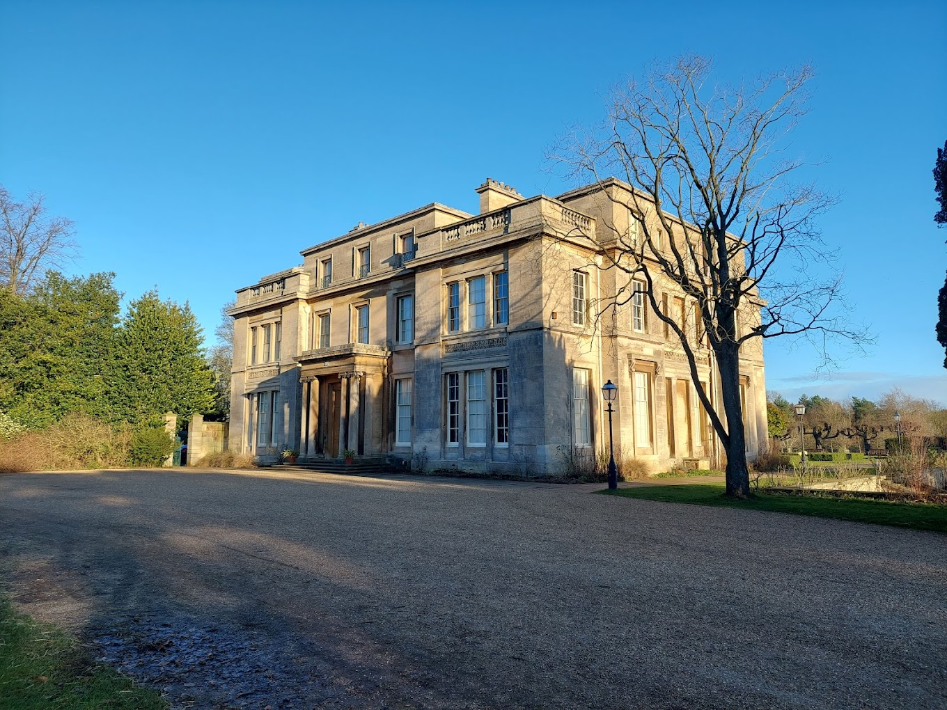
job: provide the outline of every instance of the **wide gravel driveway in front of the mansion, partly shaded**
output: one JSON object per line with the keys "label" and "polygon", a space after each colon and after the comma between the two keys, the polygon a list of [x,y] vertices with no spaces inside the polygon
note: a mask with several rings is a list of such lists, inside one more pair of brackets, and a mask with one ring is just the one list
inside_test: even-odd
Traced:
{"label": "wide gravel driveway in front of the mansion, partly shaded", "polygon": [[944,537],[595,488],[0,476],[0,577],[174,707],[947,707]]}

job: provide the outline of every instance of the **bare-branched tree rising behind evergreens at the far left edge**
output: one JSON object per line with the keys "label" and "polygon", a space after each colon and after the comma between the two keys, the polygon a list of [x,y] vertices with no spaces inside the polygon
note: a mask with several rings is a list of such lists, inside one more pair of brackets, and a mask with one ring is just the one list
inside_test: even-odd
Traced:
{"label": "bare-branched tree rising behind evergreens at the far left edge", "polygon": [[73,222],[50,217],[39,192],[18,203],[0,185],[0,288],[27,293],[46,269],[61,266],[75,256]]}

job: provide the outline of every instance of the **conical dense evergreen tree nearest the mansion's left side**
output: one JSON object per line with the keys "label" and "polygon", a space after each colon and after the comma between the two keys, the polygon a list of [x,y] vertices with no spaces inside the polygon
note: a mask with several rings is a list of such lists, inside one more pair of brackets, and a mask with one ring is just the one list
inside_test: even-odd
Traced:
{"label": "conical dense evergreen tree nearest the mansion's left side", "polygon": [[186,303],[149,292],[132,301],[118,333],[115,407],[136,423],[166,412],[183,423],[214,405],[202,331]]}

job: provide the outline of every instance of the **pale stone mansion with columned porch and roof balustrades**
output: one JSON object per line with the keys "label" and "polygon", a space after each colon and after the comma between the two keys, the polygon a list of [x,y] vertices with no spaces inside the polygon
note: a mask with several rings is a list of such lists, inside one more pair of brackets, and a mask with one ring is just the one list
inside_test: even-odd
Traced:
{"label": "pale stone mansion with columned porch and roof balustrades", "polygon": [[[673,333],[641,293],[597,317],[628,288],[603,255],[632,227],[629,190],[609,179],[524,198],[488,179],[478,215],[432,203],[359,223],[241,289],[229,311],[231,449],[555,474],[565,452],[607,452],[600,387],[611,380],[616,459],[706,467],[718,442]],[[692,304],[655,276],[661,289],[662,306],[692,324]],[[698,372],[719,401],[699,340]],[[752,458],[766,442],[759,339],[740,369]]]}

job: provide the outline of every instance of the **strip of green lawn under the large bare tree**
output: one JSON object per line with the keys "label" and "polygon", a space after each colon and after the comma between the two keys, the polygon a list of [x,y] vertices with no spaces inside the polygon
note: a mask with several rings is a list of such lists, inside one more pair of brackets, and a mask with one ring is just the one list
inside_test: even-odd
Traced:
{"label": "strip of green lawn under the large bare tree", "polygon": [[642,486],[603,490],[606,495],[640,498],[646,501],[689,503],[696,506],[740,507],[795,515],[814,515],[856,523],[876,523],[911,527],[947,534],[947,506],[927,503],[902,503],[863,498],[832,498],[818,495],[759,493],[747,501],[724,497],[724,484],[693,484],[678,486]]}

